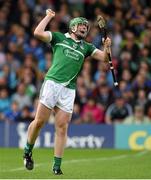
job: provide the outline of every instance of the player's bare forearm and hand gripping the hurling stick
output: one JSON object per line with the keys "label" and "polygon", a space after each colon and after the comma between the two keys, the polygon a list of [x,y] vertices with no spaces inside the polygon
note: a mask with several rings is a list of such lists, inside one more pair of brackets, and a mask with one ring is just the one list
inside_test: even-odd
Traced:
{"label": "player's bare forearm and hand gripping the hurling stick", "polygon": [[93,55],[92,57],[94,59],[97,59],[97,60],[101,60],[101,61],[104,61],[104,62],[108,62],[108,55],[107,53],[110,53],[111,52],[111,39],[109,37],[107,37],[107,39],[105,40],[104,42],[104,50],[101,51],[101,50],[97,50]]}

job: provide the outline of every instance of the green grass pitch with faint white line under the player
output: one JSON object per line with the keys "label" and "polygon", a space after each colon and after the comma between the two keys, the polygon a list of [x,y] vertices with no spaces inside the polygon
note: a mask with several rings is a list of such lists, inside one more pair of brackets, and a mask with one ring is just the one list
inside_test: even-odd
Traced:
{"label": "green grass pitch with faint white line under the player", "polygon": [[151,178],[151,151],[66,149],[64,175],[51,173],[52,149],[35,149],[33,171],[23,167],[23,151],[0,149],[0,179],[122,179]]}

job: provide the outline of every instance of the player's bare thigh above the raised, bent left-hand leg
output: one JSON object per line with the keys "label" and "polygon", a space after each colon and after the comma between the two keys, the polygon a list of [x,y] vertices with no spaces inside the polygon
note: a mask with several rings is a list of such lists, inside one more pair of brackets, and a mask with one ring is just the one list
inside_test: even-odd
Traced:
{"label": "player's bare thigh above the raised, bent left-hand leg", "polygon": [[47,122],[49,120],[51,111],[52,110],[46,107],[44,104],[42,104],[41,102],[38,102],[35,121],[38,121],[41,123]]}

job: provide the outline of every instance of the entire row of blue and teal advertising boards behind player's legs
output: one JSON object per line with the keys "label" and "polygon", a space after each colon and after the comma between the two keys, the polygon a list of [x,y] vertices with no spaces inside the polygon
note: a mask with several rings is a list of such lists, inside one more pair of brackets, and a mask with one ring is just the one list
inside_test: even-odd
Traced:
{"label": "entire row of blue and teal advertising boards behind player's legs", "polygon": [[[27,123],[0,123],[0,147],[23,148]],[[54,147],[54,126],[46,124],[35,147]],[[73,125],[68,130],[67,147],[151,150],[151,125]]]}

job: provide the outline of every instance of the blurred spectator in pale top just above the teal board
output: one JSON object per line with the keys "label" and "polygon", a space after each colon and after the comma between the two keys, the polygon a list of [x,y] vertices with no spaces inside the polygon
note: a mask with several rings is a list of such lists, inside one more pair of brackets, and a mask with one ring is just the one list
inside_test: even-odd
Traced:
{"label": "blurred spectator in pale top just above the teal board", "polygon": [[151,119],[144,115],[144,108],[140,105],[134,107],[134,114],[125,118],[124,124],[151,124]]}

